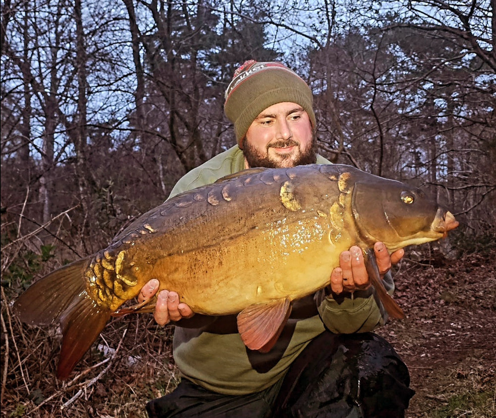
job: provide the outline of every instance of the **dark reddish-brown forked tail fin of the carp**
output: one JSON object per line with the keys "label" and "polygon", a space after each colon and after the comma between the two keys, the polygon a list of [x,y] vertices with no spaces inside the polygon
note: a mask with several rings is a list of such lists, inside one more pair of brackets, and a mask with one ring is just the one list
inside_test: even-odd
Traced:
{"label": "dark reddish-brown forked tail fin of the carp", "polygon": [[31,285],[14,303],[14,312],[29,324],[62,325],[57,377],[66,379],[110,319],[110,310],[87,294],[84,271],[89,257],[64,266]]}

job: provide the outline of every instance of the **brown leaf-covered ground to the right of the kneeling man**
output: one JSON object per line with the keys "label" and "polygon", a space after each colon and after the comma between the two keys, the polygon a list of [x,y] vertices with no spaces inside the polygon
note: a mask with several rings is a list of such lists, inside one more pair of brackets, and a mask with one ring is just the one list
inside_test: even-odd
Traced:
{"label": "brown leaf-covered ground to the right of the kneeling man", "polygon": [[395,274],[407,317],[378,332],[410,369],[407,417],[496,417],[495,256],[407,260]]}

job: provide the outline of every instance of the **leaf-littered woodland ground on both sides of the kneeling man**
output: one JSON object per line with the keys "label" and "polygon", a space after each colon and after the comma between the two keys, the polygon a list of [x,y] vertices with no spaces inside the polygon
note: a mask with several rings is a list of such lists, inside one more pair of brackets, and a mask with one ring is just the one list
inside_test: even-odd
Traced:
{"label": "leaf-littered woodland ground on both sides of the kneeling man", "polygon": [[[406,318],[377,332],[410,369],[416,394],[406,418],[496,417],[496,250],[456,260],[407,251],[394,277]],[[1,417],[144,418],[146,401],[178,382],[173,328],[149,314],[114,320],[62,384],[54,377],[60,335],[21,325],[5,305]],[[117,352],[106,357],[99,345]]]}

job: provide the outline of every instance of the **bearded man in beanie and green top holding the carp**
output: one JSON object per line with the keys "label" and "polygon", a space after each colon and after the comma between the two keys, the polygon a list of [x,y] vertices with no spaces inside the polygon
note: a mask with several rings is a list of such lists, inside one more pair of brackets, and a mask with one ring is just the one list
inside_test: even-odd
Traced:
{"label": "bearded man in beanie and green top holding the carp", "polygon": [[[225,112],[238,145],[187,173],[171,196],[253,167],[330,164],[315,152],[315,115],[307,83],[277,62],[247,61],[226,91]],[[403,251],[382,243],[381,274]],[[193,315],[177,293],[161,291],[159,324],[175,321],[178,388],[148,403],[150,417],[403,417],[413,395],[408,370],[387,342],[370,333],[385,321],[362,251],[352,247],[329,274],[329,286],[295,301],[269,353],[245,347],[235,315]],[[386,289],[394,288],[390,274]],[[155,295],[145,285],[139,301]]]}

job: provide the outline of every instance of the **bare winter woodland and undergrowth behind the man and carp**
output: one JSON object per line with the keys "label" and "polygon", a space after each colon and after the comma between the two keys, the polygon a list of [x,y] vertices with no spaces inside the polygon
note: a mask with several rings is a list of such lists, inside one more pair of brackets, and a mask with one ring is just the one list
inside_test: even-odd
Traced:
{"label": "bare winter woodland and undergrowth behind the man and carp", "polygon": [[[2,0],[2,416],[144,417],[146,399],[174,387],[170,329],[148,315],[108,327],[62,384],[60,334],[21,325],[11,302],[107,246],[235,144],[224,90],[245,60],[280,60],[310,84],[321,155],[420,185],[451,209],[461,226],[418,257],[494,249],[495,9],[496,0]],[[419,408],[412,417],[431,416]]]}

